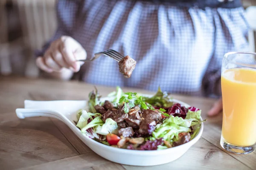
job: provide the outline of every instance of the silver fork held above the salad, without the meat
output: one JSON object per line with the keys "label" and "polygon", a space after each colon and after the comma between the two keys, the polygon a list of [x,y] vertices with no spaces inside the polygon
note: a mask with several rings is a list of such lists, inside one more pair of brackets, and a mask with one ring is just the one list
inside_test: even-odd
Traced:
{"label": "silver fork held above the salad, without the meat", "polygon": [[117,62],[119,62],[122,58],[125,57],[115,50],[107,50],[107,51],[95,53],[94,57],[91,59],[80,59],[80,60],[76,60],[76,61],[82,61],[82,62],[93,61],[94,59],[99,58],[102,54],[116,60]]}

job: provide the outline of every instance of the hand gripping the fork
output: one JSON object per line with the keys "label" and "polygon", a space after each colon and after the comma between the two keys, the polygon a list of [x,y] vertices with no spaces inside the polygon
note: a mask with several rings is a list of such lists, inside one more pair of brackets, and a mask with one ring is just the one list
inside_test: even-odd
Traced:
{"label": "hand gripping the fork", "polygon": [[47,73],[59,72],[62,68],[78,72],[84,62],[76,62],[76,60],[86,57],[87,53],[79,42],[72,37],[61,36],[51,43],[43,57],[36,59],[36,64]]}

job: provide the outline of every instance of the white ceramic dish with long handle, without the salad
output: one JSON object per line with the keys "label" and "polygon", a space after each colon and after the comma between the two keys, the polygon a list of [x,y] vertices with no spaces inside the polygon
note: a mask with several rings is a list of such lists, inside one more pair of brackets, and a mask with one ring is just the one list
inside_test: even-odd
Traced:
{"label": "white ceramic dish with long handle, without the salad", "polygon": [[[109,98],[102,98],[101,100],[106,100]],[[180,104],[189,107],[184,102],[173,99],[174,102],[179,102]],[[191,141],[182,144],[177,147],[164,149],[164,150],[128,150],[120,149],[115,147],[110,147],[105,144],[90,139],[89,137],[83,135],[81,131],[76,127],[74,121],[77,121],[76,113],[79,109],[87,110],[87,101],[24,101],[24,108],[16,109],[17,116],[20,119],[26,117],[34,116],[47,116],[54,117],[65,124],[67,124],[70,129],[76,134],[76,136],[81,139],[91,150],[102,156],[105,159],[127,165],[135,166],[152,166],[165,164],[174,161],[180,156],[182,156],[193,144],[195,144],[198,139],[200,139],[204,124],[201,124],[198,135]]]}

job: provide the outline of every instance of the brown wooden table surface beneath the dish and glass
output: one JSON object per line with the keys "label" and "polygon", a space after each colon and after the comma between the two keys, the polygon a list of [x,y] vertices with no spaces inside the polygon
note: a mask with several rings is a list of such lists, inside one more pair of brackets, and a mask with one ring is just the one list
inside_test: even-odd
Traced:
{"label": "brown wooden table surface beneath the dish and glass", "polygon": [[[97,86],[106,96],[113,87]],[[208,118],[199,141],[182,157],[169,164],[152,167],[135,167],[108,161],[88,148],[78,137],[57,119],[33,117],[18,119],[16,108],[23,108],[25,99],[31,100],[84,100],[93,85],[82,82],[60,82],[46,79],[0,77],[0,169],[26,170],[256,170],[256,151],[236,155],[221,150],[222,115]],[[124,91],[138,89],[123,88]],[[178,96],[189,105],[202,109],[202,117],[214,99]]]}

